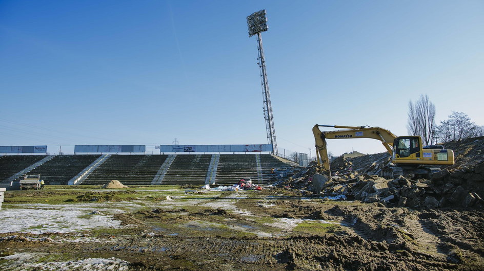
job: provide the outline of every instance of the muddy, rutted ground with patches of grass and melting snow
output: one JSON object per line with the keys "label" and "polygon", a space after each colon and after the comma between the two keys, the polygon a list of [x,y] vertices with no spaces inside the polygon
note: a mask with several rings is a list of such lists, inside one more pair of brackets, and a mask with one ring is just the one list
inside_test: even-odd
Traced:
{"label": "muddy, rutted ground with patches of grass and melting snow", "polygon": [[9,191],[0,268],[484,268],[484,212],[387,208],[297,190],[159,186]]}

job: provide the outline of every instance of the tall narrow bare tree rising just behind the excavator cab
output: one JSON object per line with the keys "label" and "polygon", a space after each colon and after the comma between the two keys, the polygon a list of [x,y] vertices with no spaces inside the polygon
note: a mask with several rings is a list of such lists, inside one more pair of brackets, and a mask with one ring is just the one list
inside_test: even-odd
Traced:
{"label": "tall narrow bare tree rising just behind the excavator cab", "polygon": [[420,95],[415,102],[409,101],[407,130],[411,135],[418,135],[425,145],[434,141],[435,105],[429,96]]}

